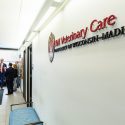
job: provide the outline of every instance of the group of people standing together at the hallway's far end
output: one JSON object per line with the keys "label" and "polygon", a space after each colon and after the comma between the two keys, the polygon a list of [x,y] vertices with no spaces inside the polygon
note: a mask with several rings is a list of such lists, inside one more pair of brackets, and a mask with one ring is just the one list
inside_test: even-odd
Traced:
{"label": "group of people standing together at the hallway's far end", "polygon": [[15,64],[9,63],[9,67],[4,63],[4,59],[0,59],[0,88],[3,89],[3,85],[6,84],[8,93],[6,95],[13,94],[20,86],[20,79],[18,74],[18,61]]}

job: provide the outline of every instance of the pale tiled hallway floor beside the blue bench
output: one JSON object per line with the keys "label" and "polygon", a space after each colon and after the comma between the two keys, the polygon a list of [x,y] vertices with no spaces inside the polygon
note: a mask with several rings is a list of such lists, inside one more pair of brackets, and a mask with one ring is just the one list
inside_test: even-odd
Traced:
{"label": "pale tiled hallway floor beside the blue bench", "polygon": [[10,105],[15,103],[24,102],[23,95],[18,89],[12,95],[6,95],[7,88],[4,88],[2,105],[0,105],[0,125],[9,125],[9,113],[10,113]]}

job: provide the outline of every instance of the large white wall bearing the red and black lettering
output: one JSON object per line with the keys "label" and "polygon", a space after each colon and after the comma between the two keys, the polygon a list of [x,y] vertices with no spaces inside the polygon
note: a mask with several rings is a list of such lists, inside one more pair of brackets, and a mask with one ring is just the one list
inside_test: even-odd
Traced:
{"label": "large white wall bearing the red and black lettering", "polygon": [[70,0],[34,39],[33,102],[46,125],[125,124],[125,37],[56,53],[52,63],[48,58],[51,32],[59,38],[111,14],[117,16],[113,28],[121,27],[124,5],[124,0]]}

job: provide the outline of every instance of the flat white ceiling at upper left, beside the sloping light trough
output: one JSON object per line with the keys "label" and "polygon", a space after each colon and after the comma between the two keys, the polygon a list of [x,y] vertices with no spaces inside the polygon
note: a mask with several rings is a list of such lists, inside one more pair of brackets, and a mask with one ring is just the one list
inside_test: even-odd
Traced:
{"label": "flat white ceiling at upper left, beside the sloping light trough", "polygon": [[45,0],[0,0],[0,48],[19,48]]}

